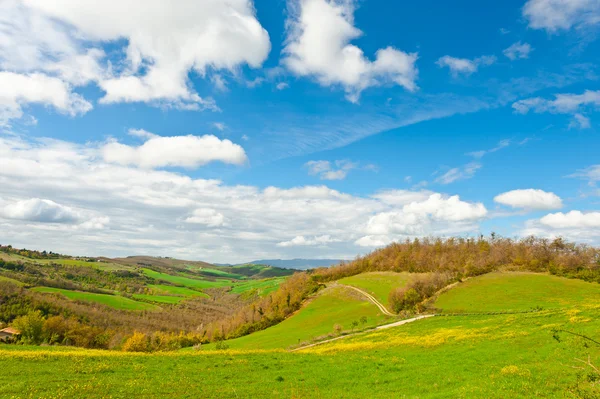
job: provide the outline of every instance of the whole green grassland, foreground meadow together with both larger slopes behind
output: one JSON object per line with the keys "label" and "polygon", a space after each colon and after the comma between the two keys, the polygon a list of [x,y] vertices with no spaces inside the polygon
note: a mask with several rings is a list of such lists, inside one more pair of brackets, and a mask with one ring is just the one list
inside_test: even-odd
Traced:
{"label": "whole green grassland, foreground meadow together with both larger slopes behind", "polygon": [[[480,276],[440,296],[437,316],[286,351],[378,309],[343,286],[228,350],[155,354],[0,344],[4,398],[598,398],[600,285],[553,276]],[[575,335],[577,334],[577,335]],[[584,336],[584,337],[582,337]],[[581,362],[584,360],[585,362]]]}

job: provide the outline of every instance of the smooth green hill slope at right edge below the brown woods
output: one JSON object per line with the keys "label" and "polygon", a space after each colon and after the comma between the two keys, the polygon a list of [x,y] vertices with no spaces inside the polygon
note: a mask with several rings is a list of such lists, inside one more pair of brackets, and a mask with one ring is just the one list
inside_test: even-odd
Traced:
{"label": "smooth green hill slope at right edge below the brown woods", "polygon": [[440,295],[445,312],[522,311],[597,303],[600,284],[547,274],[490,273],[469,279]]}

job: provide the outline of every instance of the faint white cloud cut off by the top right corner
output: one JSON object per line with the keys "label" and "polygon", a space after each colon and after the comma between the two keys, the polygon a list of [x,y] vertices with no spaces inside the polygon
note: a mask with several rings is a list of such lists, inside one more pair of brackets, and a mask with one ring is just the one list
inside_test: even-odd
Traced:
{"label": "faint white cloud cut off by the top right corner", "polygon": [[550,33],[600,22],[598,0],[529,0],[523,7],[529,27]]}

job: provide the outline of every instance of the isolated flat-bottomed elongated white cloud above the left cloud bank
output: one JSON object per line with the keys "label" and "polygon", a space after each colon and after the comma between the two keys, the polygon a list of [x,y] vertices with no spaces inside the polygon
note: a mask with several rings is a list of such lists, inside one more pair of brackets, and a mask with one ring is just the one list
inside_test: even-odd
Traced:
{"label": "isolated flat-bottomed elongated white cloud above the left cloud bank", "polygon": [[214,161],[242,165],[248,160],[241,146],[212,135],[155,136],[139,147],[113,141],[104,145],[102,156],[106,162],[142,168],[196,168]]}

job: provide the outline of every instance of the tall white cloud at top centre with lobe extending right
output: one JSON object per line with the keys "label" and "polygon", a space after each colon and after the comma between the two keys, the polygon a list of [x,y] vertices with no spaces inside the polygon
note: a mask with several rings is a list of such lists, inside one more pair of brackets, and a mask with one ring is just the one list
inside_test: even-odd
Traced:
{"label": "tall white cloud at top centre with lobe extending right", "polygon": [[340,85],[351,102],[363,90],[381,84],[417,89],[416,53],[393,47],[377,50],[375,61],[350,44],[362,35],[354,26],[354,1],[291,0],[283,64],[322,86]]}

